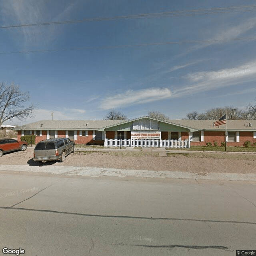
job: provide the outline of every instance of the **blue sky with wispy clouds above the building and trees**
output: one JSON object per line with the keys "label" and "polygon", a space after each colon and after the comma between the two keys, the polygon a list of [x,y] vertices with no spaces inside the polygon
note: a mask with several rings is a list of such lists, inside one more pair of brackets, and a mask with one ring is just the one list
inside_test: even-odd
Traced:
{"label": "blue sky with wispy clouds above the building and trees", "polygon": [[[52,112],[56,120],[103,119],[111,108],[129,119],[149,110],[182,119],[243,108],[256,93],[254,4],[2,0],[0,82],[19,85],[38,106],[34,118],[8,124]],[[2,28],[70,20],[84,21]]]}

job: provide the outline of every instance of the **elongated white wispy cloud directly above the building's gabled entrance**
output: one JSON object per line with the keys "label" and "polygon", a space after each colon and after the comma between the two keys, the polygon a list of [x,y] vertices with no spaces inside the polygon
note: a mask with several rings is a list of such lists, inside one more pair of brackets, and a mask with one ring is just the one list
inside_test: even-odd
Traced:
{"label": "elongated white wispy cloud directly above the building's gabled entrance", "polygon": [[172,92],[168,88],[148,88],[128,90],[122,94],[107,97],[101,104],[102,109],[131,106],[170,98]]}

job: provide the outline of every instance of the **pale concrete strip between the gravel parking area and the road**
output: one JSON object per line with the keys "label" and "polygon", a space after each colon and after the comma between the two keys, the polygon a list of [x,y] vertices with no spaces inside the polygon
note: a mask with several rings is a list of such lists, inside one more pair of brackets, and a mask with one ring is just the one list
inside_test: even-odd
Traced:
{"label": "pale concrete strip between the gravel parking area and the road", "polygon": [[173,178],[173,179],[196,179],[196,180],[231,180],[231,181],[256,181],[256,174],[238,173],[196,173],[196,172],[170,172],[150,170],[127,170],[98,167],[74,167],[74,166],[26,166],[26,165],[2,165],[0,171],[15,172],[43,172],[61,174],[67,176],[88,177],[136,177],[136,178]]}

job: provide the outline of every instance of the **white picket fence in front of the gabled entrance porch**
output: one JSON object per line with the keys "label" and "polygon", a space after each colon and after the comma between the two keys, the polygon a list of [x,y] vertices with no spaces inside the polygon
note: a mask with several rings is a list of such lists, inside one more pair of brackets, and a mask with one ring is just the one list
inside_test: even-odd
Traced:
{"label": "white picket fence in front of the gabled entrance porch", "polygon": [[144,148],[189,148],[188,140],[131,140],[130,139],[106,139],[105,147],[144,147]]}

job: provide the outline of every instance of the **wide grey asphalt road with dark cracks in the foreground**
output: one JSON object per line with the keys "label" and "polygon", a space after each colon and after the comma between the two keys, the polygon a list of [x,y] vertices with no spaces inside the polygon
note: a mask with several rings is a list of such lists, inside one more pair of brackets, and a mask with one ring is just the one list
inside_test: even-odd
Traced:
{"label": "wide grey asphalt road with dark cracks in the foreground", "polygon": [[26,256],[234,256],[256,250],[255,195],[256,183],[248,181],[4,172],[1,253],[6,247]]}

